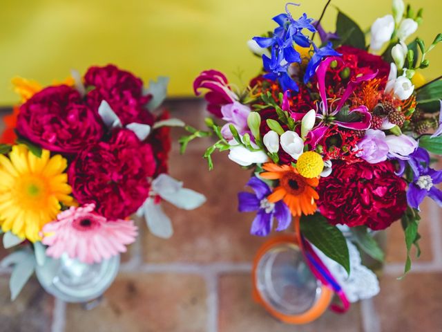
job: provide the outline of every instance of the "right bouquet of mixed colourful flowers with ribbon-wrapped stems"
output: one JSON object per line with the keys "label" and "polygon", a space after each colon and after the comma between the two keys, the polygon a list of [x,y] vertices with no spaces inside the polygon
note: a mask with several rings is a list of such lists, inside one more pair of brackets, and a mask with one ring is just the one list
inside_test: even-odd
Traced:
{"label": "right bouquet of mixed colourful flowers with ribbon-wrapped stems", "polygon": [[253,192],[238,194],[239,211],[257,213],[251,234],[267,236],[273,220],[276,231],[287,230],[293,219],[311,273],[345,311],[378,293],[358,250],[382,261],[372,235],[401,219],[406,273],[412,245],[419,250],[419,205],[429,196],[442,206],[442,171],[430,167],[429,154],[442,154],[442,82],[423,84],[420,73],[442,35],[430,46],[419,38],[405,44],[422,10],[415,15],[402,0],[393,15],[376,19],[370,44],[343,12],[336,33],[326,33],[320,19],[294,19],[290,5],[273,17],[272,33],[249,41],[263,69],[246,89],[236,91],[215,70],[195,80],[195,94],[206,89],[208,111],[226,123],[208,118],[209,131],[188,127],[182,149],[212,135],[209,169],[218,149],[251,171]]}

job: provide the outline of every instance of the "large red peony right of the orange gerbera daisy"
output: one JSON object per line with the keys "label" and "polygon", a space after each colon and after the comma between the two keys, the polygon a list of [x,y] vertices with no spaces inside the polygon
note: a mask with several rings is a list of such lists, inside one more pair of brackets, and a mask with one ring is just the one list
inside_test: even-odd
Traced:
{"label": "large red peony right of the orange gerbera daisy", "polygon": [[316,187],[319,194],[316,203],[320,213],[334,225],[367,225],[372,230],[383,230],[405,212],[406,187],[388,161],[378,164],[334,161],[332,174],[321,178]]}

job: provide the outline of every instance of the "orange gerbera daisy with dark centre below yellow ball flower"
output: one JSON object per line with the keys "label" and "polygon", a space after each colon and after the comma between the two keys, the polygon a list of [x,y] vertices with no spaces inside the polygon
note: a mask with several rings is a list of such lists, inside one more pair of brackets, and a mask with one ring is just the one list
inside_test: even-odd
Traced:
{"label": "orange gerbera daisy with dark centre below yellow ball flower", "polygon": [[268,171],[260,174],[262,178],[279,180],[278,187],[267,197],[269,202],[276,203],[282,199],[293,216],[316,212],[315,199],[319,199],[319,196],[313,187],[318,185],[318,178],[300,176],[296,168],[290,165],[266,163],[262,168]]}

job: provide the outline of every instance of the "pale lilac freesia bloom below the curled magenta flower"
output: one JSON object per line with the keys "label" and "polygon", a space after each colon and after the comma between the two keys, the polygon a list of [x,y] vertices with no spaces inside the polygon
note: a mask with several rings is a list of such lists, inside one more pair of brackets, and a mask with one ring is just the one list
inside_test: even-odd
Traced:
{"label": "pale lilac freesia bloom below the curled magenta flower", "polygon": [[222,137],[226,140],[231,140],[233,135],[230,131],[229,125],[233,124],[233,127],[238,130],[240,136],[244,133],[250,132],[247,125],[247,117],[249,116],[249,107],[241,104],[240,102],[233,102],[232,104],[223,105],[221,107],[222,120],[227,121],[221,129]]}

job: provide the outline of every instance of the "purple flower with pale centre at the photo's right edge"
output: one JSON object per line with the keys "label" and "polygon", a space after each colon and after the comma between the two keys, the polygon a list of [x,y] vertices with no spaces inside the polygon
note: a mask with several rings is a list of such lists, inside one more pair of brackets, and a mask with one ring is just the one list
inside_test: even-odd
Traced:
{"label": "purple flower with pale centre at the photo's right edge", "polygon": [[408,160],[398,160],[400,165],[399,175],[405,172],[405,163],[410,165],[413,172],[413,181],[408,185],[408,205],[419,210],[425,196],[429,196],[442,207],[442,191],[434,185],[442,182],[442,171],[436,171],[428,167],[430,165],[430,154],[428,151],[418,147]]}

